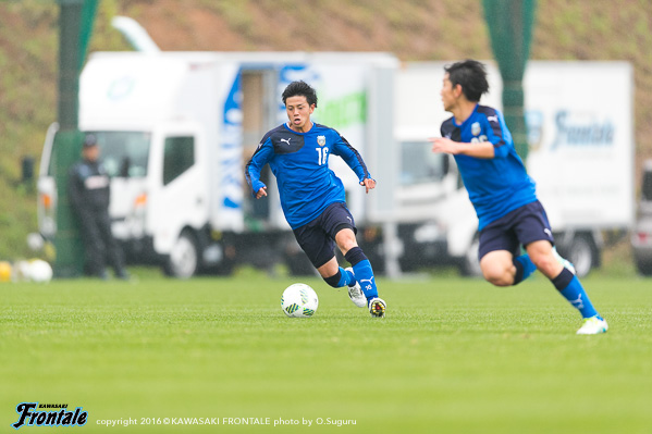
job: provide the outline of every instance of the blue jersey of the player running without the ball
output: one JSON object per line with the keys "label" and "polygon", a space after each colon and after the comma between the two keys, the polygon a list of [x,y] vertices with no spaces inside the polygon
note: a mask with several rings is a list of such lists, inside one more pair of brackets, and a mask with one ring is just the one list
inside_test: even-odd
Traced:
{"label": "blue jersey of the player running without the ball", "polygon": [[495,153],[492,159],[455,156],[469,199],[476,208],[480,231],[494,220],[537,200],[534,182],[514,149],[512,134],[500,111],[477,104],[462,124],[454,117],[446,120],[441,134],[464,144],[493,144]]}

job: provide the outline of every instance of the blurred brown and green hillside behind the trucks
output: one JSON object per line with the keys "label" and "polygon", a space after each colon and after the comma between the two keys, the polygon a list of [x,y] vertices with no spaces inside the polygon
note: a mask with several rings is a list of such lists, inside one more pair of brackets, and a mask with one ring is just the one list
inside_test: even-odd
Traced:
{"label": "blurred brown and green hillside behind the trucks", "polygon": [[[652,2],[538,4],[531,59],[633,64],[637,157],[652,158]],[[38,162],[57,119],[58,15],[54,0],[0,2],[0,259],[29,255],[25,236],[37,230],[34,182],[21,183],[21,160]],[[479,0],[102,0],[90,50],[130,49],[110,26],[114,15],[136,18],[163,50],[492,58]]]}

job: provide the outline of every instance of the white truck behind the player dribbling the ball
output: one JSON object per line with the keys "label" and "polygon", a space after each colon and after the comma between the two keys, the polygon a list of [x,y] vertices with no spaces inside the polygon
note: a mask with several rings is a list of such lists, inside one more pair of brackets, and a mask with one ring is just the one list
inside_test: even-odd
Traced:
{"label": "white truck behind the player dribbling the ball", "polygon": [[[318,90],[315,121],[336,127],[373,168],[379,156],[371,144],[393,140],[397,65],[385,53],[94,53],[79,80],[79,129],[97,136],[112,176],[112,230],[127,259],[189,277],[202,269],[227,273],[241,261],[271,266],[283,251],[291,269],[309,270],[275,183],[267,183],[266,200],[255,201],[244,165],[265,133],[287,121],[282,90],[304,79]],[[46,238],[57,231],[56,132],[56,125],[48,131],[38,181]],[[364,221],[372,199],[341,159],[331,168]]]}

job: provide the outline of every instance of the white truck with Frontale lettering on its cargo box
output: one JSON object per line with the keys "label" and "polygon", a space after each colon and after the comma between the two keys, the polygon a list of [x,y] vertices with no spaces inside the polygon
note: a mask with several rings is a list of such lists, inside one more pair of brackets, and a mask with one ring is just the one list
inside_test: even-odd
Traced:
{"label": "white truck with Frontale lettering on its cargo box", "polygon": [[[413,63],[396,75],[395,125],[401,156],[393,211],[401,268],[458,264],[479,274],[478,220],[450,156],[433,154],[440,136],[443,62]],[[490,94],[501,108],[502,82],[489,62]],[[626,62],[530,61],[525,78],[528,173],[537,182],[558,250],[579,275],[600,265],[602,233],[632,227],[633,76]],[[398,164],[398,163],[397,163]]]}

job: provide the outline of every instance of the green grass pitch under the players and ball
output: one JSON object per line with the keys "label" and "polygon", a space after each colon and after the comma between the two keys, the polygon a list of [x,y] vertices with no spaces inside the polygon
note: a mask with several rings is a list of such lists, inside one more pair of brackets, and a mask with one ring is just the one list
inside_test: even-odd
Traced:
{"label": "green grass pitch under the players and ball", "polygon": [[[0,284],[0,433],[23,401],[88,412],[84,426],[25,432],[650,433],[650,280],[585,281],[610,322],[600,336],[576,336],[579,315],[540,276],[381,280],[383,320],[303,281],[320,305],[300,320],[280,309],[293,280],[255,273]],[[98,424],[121,419],[138,424]]]}

